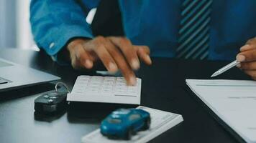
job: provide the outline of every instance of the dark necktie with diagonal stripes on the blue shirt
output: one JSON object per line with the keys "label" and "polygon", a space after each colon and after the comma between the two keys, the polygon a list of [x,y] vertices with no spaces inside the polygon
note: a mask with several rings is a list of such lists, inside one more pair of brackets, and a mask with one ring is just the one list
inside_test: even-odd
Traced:
{"label": "dark necktie with diagonal stripes on the blue shirt", "polygon": [[183,0],[176,57],[206,59],[213,0]]}

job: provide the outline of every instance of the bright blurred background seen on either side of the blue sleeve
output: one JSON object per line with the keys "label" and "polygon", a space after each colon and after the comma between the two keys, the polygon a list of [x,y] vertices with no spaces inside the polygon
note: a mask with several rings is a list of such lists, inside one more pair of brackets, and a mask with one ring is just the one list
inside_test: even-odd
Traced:
{"label": "bright blurred background seen on either side of the blue sleeve", "polygon": [[[31,0],[0,0],[0,49],[20,48],[39,50],[33,41],[29,24]],[[96,9],[91,10],[86,21],[91,23]]]}

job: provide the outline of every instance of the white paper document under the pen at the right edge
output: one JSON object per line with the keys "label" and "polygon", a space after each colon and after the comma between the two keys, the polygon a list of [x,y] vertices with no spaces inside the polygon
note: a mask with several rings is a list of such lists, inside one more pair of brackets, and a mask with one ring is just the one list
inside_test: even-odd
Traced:
{"label": "white paper document under the pen at the right edge", "polygon": [[186,79],[188,87],[246,142],[256,142],[256,82]]}

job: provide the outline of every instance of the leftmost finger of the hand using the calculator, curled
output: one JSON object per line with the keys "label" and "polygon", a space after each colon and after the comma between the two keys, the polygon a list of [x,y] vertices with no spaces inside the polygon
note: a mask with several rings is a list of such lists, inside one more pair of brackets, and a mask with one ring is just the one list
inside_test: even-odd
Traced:
{"label": "leftmost finger of the hand using the calculator, curled", "polygon": [[83,46],[81,44],[76,46],[76,58],[78,61],[80,61],[81,65],[85,66],[86,69],[91,69],[93,67],[93,61],[91,61],[90,56],[86,52],[86,50],[83,49]]}

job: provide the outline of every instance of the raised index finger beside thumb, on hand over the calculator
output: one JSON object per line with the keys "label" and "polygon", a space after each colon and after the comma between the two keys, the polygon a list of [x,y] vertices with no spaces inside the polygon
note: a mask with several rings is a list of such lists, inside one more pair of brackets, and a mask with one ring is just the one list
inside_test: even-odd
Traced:
{"label": "raised index finger beside thumb, on hand over the calculator", "polygon": [[124,37],[109,37],[109,39],[114,45],[119,47],[132,69],[136,70],[140,68],[140,61],[137,56],[137,52],[133,48],[129,39]]}

